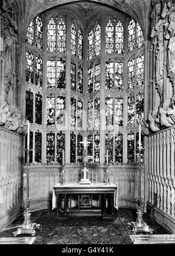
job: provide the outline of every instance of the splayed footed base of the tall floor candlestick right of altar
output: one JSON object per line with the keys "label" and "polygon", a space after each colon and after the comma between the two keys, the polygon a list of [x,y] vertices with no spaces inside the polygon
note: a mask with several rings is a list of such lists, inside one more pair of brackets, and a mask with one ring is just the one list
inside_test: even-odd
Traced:
{"label": "splayed footed base of the tall floor candlestick right of altar", "polygon": [[143,211],[138,210],[136,212],[136,214],[138,214],[136,221],[131,221],[131,223],[128,223],[128,226],[132,227],[132,232],[133,234],[136,234],[138,232],[147,232],[152,234],[153,233],[153,229],[150,228],[145,221],[143,221]]}

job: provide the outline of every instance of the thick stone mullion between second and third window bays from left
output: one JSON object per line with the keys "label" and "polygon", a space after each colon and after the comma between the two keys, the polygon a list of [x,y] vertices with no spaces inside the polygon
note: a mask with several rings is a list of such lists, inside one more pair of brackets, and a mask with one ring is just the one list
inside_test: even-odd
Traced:
{"label": "thick stone mullion between second and third window bays from left", "polygon": [[70,106],[71,106],[71,16],[67,16],[67,54],[66,54],[66,90],[65,90],[65,163],[70,163]]}

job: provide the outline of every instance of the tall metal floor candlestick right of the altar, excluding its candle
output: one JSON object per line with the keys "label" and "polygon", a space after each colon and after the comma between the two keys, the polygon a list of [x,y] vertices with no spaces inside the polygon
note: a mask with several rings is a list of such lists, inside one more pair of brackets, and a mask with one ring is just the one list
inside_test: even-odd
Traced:
{"label": "tall metal floor candlestick right of the altar, excluding its candle", "polygon": [[139,146],[139,199],[138,199],[138,211],[136,211],[137,218],[136,221],[131,221],[128,223],[128,226],[132,227],[133,234],[138,232],[148,232],[150,234],[153,233],[153,229],[150,228],[145,221],[143,221],[143,211],[141,210],[142,206],[142,198],[141,198],[141,147]]}

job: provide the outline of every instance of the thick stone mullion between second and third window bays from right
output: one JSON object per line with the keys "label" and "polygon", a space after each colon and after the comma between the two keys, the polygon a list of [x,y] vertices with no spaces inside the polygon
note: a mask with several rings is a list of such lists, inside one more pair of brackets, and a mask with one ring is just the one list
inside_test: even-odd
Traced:
{"label": "thick stone mullion between second and third window bays from right", "polygon": [[106,30],[105,30],[105,21],[101,18],[101,53],[100,53],[100,67],[101,67],[101,76],[100,76],[100,164],[105,163],[105,131],[106,131],[106,122],[105,122],[105,74],[106,74]]}

